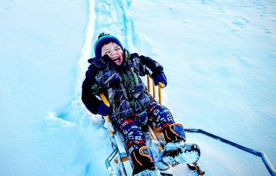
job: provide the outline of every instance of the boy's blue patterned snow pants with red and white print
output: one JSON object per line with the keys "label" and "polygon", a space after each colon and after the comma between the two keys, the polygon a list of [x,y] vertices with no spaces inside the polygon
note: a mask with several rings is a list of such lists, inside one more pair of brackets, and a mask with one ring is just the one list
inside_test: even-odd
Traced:
{"label": "boy's blue patterned snow pants with red and white print", "polygon": [[125,135],[130,153],[146,145],[146,139],[141,131],[141,126],[147,123],[150,126],[157,126],[164,131],[166,126],[175,123],[175,120],[173,120],[172,114],[167,107],[156,102],[151,102],[148,109],[143,113],[137,114],[134,117],[120,118],[117,124]]}

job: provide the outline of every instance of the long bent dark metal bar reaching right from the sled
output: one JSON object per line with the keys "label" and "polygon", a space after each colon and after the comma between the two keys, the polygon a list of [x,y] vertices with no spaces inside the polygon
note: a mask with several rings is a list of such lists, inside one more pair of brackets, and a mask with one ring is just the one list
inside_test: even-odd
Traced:
{"label": "long bent dark metal bar reaching right from the sled", "polygon": [[247,153],[251,153],[253,155],[261,157],[262,158],[262,162],[264,163],[264,166],[266,166],[266,169],[268,170],[268,172],[270,173],[270,175],[276,176],[275,167],[271,163],[271,161],[268,158],[268,156],[266,155],[266,153],[264,153],[263,151],[256,151],[254,149],[247,148],[247,147],[239,145],[239,144],[237,144],[235,142],[231,142],[230,140],[226,140],[226,139],[224,139],[222,137],[219,137],[218,135],[214,135],[212,133],[208,133],[207,131],[204,131],[202,129],[185,129],[185,131],[188,132],[188,133],[201,133],[201,134],[207,135],[208,137],[211,137],[211,138],[213,138],[215,140],[218,140],[219,142],[224,142],[226,144],[229,144],[230,146],[235,146],[236,148],[239,148],[242,151],[246,151]]}

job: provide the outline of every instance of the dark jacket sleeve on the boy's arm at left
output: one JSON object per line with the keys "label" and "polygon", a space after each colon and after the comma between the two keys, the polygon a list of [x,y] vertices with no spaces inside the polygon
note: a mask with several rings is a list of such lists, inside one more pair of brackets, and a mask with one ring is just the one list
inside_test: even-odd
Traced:
{"label": "dark jacket sleeve on the boy's arm at left", "polygon": [[96,74],[97,71],[93,69],[92,65],[90,65],[86,71],[86,78],[83,80],[81,91],[81,100],[83,104],[86,105],[86,108],[94,114],[98,113],[97,107],[101,103],[101,100],[93,95],[93,91],[91,89],[92,85],[95,83]]}

